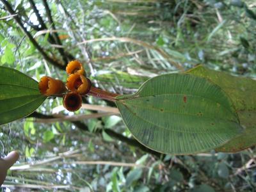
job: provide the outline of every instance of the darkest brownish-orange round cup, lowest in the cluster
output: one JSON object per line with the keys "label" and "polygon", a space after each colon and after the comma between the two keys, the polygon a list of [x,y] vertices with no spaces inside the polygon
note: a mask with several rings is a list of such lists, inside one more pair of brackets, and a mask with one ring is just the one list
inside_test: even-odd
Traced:
{"label": "darkest brownish-orange round cup, lowest in the cluster", "polygon": [[63,106],[68,111],[77,111],[82,106],[82,97],[79,93],[69,92],[63,97]]}

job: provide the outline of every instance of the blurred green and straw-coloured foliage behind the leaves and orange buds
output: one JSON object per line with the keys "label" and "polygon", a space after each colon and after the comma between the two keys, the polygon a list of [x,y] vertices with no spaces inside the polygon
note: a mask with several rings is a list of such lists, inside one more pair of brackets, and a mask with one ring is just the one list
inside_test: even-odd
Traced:
{"label": "blurred green and straw-coloured foliage behind the leaves and orange buds", "polygon": [[[73,58],[83,61],[95,86],[116,93],[134,93],[149,77],[198,63],[237,76],[256,76],[253,0],[7,1],[13,13],[4,2],[0,3],[0,65],[36,80],[47,75],[65,81],[63,68]],[[33,3],[42,20],[36,17]],[[91,97],[84,102],[111,106]],[[14,149],[21,154],[4,183],[6,190],[255,188],[254,148],[237,154],[163,156],[134,141],[112,108],[106,116],[95,108],[68,113],[57,108],[60,105],[60,99],[48,99],[32,117],[1,126],[1,155]],[[60,116],[54,121],[51,115],[56,111],[90,118],[64,122]],[[38,117],[51,118],[52,123]]]}

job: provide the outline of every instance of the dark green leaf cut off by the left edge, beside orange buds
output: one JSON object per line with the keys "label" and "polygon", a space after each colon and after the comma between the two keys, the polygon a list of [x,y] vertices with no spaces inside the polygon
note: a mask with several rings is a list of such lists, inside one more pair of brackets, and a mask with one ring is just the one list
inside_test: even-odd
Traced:
{"label": "dark green leaf cut off by the left edge, beside orange buds", "polygon": [[28,116],[46,99],[31,77],[8,67],[0,73],[0,125]]}

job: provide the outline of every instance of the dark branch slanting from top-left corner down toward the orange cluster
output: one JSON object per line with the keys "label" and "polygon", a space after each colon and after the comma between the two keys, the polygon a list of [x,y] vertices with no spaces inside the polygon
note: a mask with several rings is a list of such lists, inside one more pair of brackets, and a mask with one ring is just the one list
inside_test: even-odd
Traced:
{"label": "dark branch slanting from top-left corner down toward the orange cluster", "polygon": [[[8,1],[4,1],[4,0],[0,0],[6,10],[8,10],[8,12],[11,15],[15,15],[16,13],[13,11],[12,6],[10,5],[10,3],[8,3]],[[36,42],[36,40],[33,38],[33,36],[28,32],[28,30],[23,26],[21,19],[19,17],[19,15],[13,17],[17,24],[20,26],[20,28],[22,29],[22,31],[26,34],[26,36],[28,36],[29,40],[31,41],[31,43],[36,47],[36,49],[42,54],[42,56],[44,57],[44,59],[46,61],[49,61],[49,63],[51,63],[52,65],[59,67],[63,70],[65,70],[65,66],[61,65],[61,63],[59,63],[58,61],[54,60],[53,58],[51,58],[49,55],[47,55],[47,53],[44,51],[44,49],[42,49],[42,47],[40,47],[40,45]]]}

